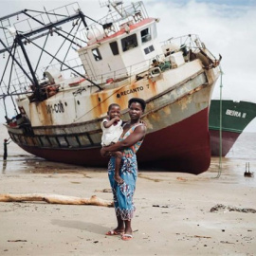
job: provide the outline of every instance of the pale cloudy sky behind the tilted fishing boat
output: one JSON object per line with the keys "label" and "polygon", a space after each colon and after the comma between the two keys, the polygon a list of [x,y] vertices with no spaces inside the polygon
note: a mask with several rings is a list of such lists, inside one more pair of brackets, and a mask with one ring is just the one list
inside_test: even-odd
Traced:
{"label": "pale cloudy sky behind the tilted fishing boat", "polygon": [[[128,4],[130,1],[124,2]],[[149,16],[160,18],[159,41],[180,35],[198,34],[216,57],[218,54],[222,55],[224,99],[256,102],[256,0],[143,2]],[[73,1],[0,0],[0,17],[21,9],[55,9],[70,3]],[[99,9],[97,0],[82,0],[79,5],[84,14],[95,19],[107,13],[106,8]],[[215,86],[212,99],[219,99],[219,85],[220,80]],[[0,111],[2,121],[2,104]],[[249,130],[256,132],[254,126],[256,127],[256,120],[253,121],[253,128]]]}

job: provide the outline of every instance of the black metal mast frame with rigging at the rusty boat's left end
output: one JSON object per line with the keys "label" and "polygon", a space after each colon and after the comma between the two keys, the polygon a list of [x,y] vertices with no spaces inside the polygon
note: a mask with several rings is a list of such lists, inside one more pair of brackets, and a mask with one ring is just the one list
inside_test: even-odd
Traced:
{"label": "black metal mast frame with rigging at the rusty boat's left end", "polygon": [[[64,8],[66,9],[66,7],[67,6],[65,6]],[[73,4],[72,7],[74,8]],[[84,15],[79,7],[74,10],[74,14],[70,14],[68,11],[67,13],[63,14],[63,12],[57,11],[55,9],[50,11],[46,11],[46,9],[45,11],[24,9],[6,15],[4,17],[0,17],[0,30],[2,29],[3,33],[3,36],[1,36],[0,38],[0,54],[3,54],[3,58],[5,58],[5,52],[9,54],[8,61],[5,63],[5,66],[3,68],[4,71],[1,72],[0,76],[0,98],[27,94],[27,89],[24,88],[29,85],[32,88],[35,100],[43,101],[40,95],[41,88],[38,81],[38,75],[36,74],[38,69],[37,67],[41,61],[43,52],[46,53],[48,56],[52,57],[52,61],[55,60],[57,63],[63,64],[66,69],[69,69],[73,73],[85,78],[85,76],[82,75],[81,72],[78,72],[75,67],[66,65],[64,62],[65,57],[67,56],[67,53],[71,48],[71,45],[82,47],[82,44],[87,44],[87,42],[83,41],[82,38],[77,37],[76,33],[72,34],[71,32],[73,28],[70,31],[65,32],[63,27],[61,26],[64,26],[64,24],[67,24],[70,21],[73,21],[73,27],[78,26],[79,28],[82,24],[86,29],[88,29],[85,19],[89,19],[92,22],[96,21]],[[45,19],[43,18],[43,15],[45,15]],[[54,17],[54,21],[51,17]],[[27,27],[22,27],[23,31],[20,31],[16,26],[17,24],[19,25],[19,23],[22,22],[27,24],[27,27],[29,28],[27,29]],[[33,26],[36,24],[36,26],[32,27],[31,24],[33,24]],[[60,49],[55,54],[50,54],[45,49],[48,35],[52,36],[53,34],[57,34],[58,36],[63,37],[64,42],[66,41],[70,43],[70,46],[63,60],[57,58],[57,54]],[[35,44],[36,40],[43,37],[46,37],[44,46],[39,46],[39,44]],[[41,51],[35,67],[32,64],[33,61],[31,61],[31,56],[28,56],[27,54],[26,46],[28,44],[37,46]],[[18,49],[20,49],[20,52]],[[26,65],[22,62],[22,59],[25,60]],[[12,60],[11,64],[10,60]],[[47,65],[47,67],[48,66],[49,65]],[[12,83],[12,73],[14,72],[16,81],[15,84]],[[23,79],[20,78],[21,72],[23,74]],[[6,79],[9,81],[8,83],[4,82],[4,78],[6,77],[9,77]],[[27,80],[29,81],[28,83],[26,82]],[[101,90],[101,86],[99,84],[89,80],[88,78],[86,78],[86,80],[91,82],[93,86],[97,86]],[[25,83],[27,85],[25,85]]]}

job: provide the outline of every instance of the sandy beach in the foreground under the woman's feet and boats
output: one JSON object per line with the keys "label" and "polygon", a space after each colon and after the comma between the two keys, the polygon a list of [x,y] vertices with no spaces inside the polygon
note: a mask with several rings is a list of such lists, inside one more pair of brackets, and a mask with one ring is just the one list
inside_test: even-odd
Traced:
{"label": "sandy beach in the foreground under the woman's feet and boats", "polygon": [[[217,204],[256,209],[255,179],[244,176],[244,163],[224,159],[219,178],[218,158],[212,158],[210,171],[197,176],[140,172],[131,241],[104,234],[115,228],[113,208],[0,203],[0,254],[255,255],[255,213],[210,212]],[[251,170],[255,166],[252,162]],[[54,193],[83,198],[96,194],[112,200],[111,192],[101,192],[110,188],[104,169],[29,159],[26,168],[22,163],[14,167],[7,162],[2,170],[0,193]],[[238,172],[233,172],[233,167]]]}

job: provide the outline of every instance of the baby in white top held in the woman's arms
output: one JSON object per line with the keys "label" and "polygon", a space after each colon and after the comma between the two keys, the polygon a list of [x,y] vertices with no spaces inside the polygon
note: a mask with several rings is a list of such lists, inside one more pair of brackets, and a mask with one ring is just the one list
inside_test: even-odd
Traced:
{"label": "baby in white top held in the woman's arms", "polygon": [[[101,122],[102,137],[101,146],[109,146],[111,144],[117,143],[119,137],[121,136],[122,130],[122,120],[120,119],[120,106],[119,104],[113,103],[108,107],[108,119],[103,119]],[[109,155],[116,158],[115,160],[115,180],[121,184],[123,182],[122,178],[119,176],[120,164],[122,153],[120,151],[111,152]]]}

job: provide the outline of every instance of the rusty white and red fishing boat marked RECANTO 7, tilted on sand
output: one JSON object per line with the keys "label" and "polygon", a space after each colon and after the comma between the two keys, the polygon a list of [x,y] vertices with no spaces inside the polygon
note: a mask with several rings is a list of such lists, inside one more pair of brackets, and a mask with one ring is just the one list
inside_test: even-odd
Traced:
{"label": "rusty white and red fishing boat marked RECANTO 7, tilted on sand", "polygon": [[[210,96],[220,60],[197,35],[158,43],[159,19],[148,17],[142,2],[108,1],[102,6],[109,10],[98,21],[73,5],[71,10],[65,6],[31,14],[25,9],[0,18],[6,38],[0,40],[0,53],[12,60],[9,77],[16,74],[15,80],[1,81],[2,99],[16,96],[18,106],[13,118],[6,109],[9,136],[48,160],[106,166],[100,148],[107,107],[119,103],[127,120],[127,102],[138,97],[147,102],[143,119],[148,126],[139,164],[191,174],[207,171]],[[19,22],[11,25],[17,15]],[[55,45],[60,48],[51,53]],[[31,46],[38,50],[36,58]],[[74,48],[79,58],[71,65],[67,56]],[[50,59],[39,70],[46,56]]]}

